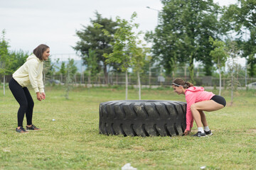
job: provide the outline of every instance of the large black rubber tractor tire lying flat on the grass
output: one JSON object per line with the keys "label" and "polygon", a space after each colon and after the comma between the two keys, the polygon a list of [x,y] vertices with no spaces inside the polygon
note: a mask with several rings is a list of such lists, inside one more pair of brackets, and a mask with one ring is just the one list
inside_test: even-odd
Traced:
{"label": "large black rubber tractor tire lying flat on the grass", "polygon": [[100,103],[100,134],[176,136],[186,129],[181,101],[107,101]]}

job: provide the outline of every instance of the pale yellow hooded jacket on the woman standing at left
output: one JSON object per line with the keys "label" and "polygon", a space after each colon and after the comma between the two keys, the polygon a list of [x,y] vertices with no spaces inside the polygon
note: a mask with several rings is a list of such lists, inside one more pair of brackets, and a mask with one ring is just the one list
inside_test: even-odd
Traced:
{"label": "pale yellow hooded jacket on the woman standing at left", "polygon": [[13,78],[22,87],[31,84],[36,93],[43,93],[43,61],[34,54],[30,55],[26,62],[14,72]]}

